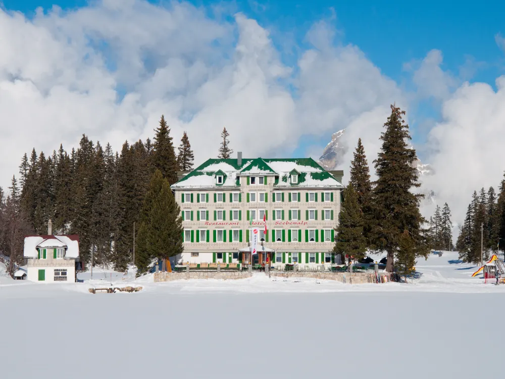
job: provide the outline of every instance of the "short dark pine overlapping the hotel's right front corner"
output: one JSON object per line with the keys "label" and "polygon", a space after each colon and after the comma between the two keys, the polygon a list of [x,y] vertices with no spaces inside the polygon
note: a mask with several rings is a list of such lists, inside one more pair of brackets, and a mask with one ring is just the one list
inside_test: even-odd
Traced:
{"label": "short dark pine overlapping the hotel's right front corner", "polygon": [[338,216],[338,226],[335,229],[337,238],[333,251],[343,257],[348,254],[355,259],[365,257],[367,240],[364,235],[365,217],[359,204],[358,193],[352,183],[344,190],[344,201]]}

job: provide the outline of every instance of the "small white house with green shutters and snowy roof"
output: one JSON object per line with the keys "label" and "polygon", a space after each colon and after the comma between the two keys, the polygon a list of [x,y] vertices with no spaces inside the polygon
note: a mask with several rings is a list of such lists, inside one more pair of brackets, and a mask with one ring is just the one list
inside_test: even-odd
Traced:
{"label": "small white house with green shutters and snowy roof", "polygon": [[51,234],[25,237],[24,258],[27,259],[27,279],[30,281],[75,282],[75,262],[79,258],[79,236]]}

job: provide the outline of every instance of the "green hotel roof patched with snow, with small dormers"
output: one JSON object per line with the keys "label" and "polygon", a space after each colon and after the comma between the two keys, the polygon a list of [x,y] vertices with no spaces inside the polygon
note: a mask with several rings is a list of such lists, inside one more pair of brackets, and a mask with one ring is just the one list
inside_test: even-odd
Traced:
{"label": "green hotel roof patched with snow, with small dormers", "polygon": [[[289,175],[295,170],[299,173],[296,183],[291,183]],[[225,174],[223,184],[216,183],[215,174],[222,171]],[[240,165],[237,159],[209,159],[177,183],[174,189],[198,188],[238,188],[240,176],[269,175],[275,176],[274,187],[335,187],[343,185],[312,158],[299,159],[242,159]]]}

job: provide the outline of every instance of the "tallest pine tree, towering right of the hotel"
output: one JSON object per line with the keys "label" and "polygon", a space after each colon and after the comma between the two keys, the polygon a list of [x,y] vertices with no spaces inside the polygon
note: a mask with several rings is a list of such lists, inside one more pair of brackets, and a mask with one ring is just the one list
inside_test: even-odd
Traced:
{"label": "tallest pine tree, towering right of the hotel", "polygon": [[373,196],[375,202],[374,224],[371,231],[374,246],[387,252],[386,271],[392,272],[396,256],[401,262],[408,262],[407,254],[399,250],[399,239],[408,231],[413,240],[416,256],[427,257],[429,248],[424,241],[425,231],[422,225],[425,219],[419,211],[421,195],[411,192],[419,187],[413,162],[417,159],[416,151],[409,149],[406,140],[410,140],[409,126],[403,121],[401,111],[391,106],[391,115],[384,124],[382,148],[374,161],[378,179]]}

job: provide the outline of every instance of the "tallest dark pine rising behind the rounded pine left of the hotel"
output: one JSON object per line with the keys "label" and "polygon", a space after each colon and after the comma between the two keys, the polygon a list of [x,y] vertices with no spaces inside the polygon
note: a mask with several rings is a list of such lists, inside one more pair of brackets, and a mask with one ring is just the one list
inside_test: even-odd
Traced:
{"label": "tallest dark pine rising behind the rounded pine left of the hotel", "polygon": [[161,171],[163,177],[168,180],[170,185],[177,182],[177,171],[179,169],[172,139],[170,128],[165,121],[165,117],[162,115],[160,126],[156,129],[152,159],[154,168]]}

